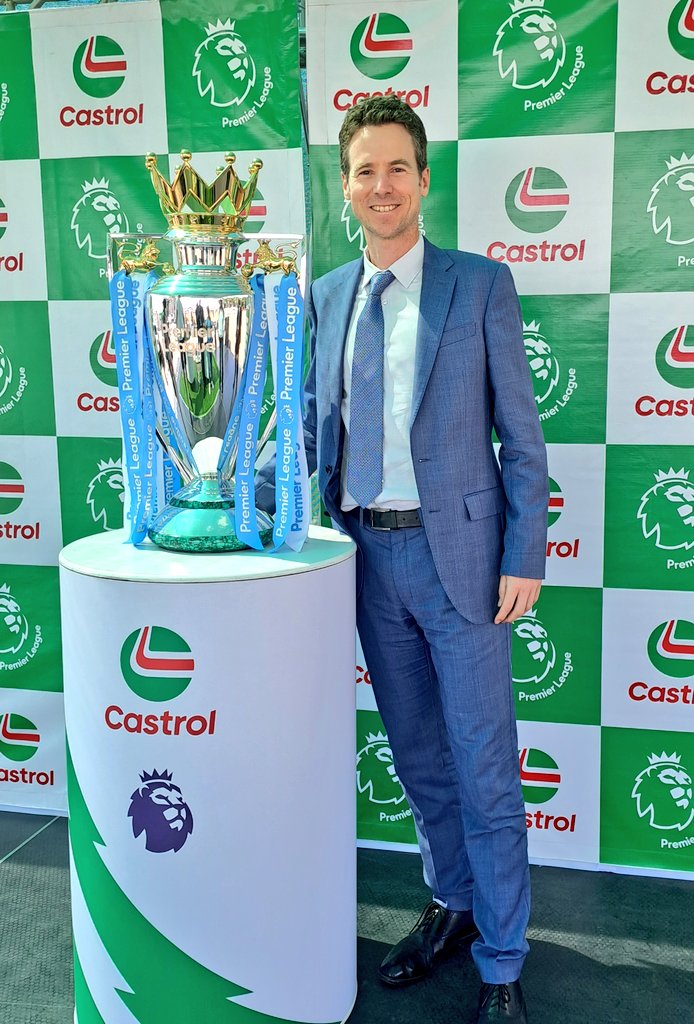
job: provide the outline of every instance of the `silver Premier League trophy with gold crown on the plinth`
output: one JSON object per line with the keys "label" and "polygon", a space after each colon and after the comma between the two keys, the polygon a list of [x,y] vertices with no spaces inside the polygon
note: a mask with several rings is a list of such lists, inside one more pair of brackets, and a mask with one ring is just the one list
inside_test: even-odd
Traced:
{"label": "silver Premier League trophy with gold crown on the plinth", "polygon": [[[251,545],[248,537],[240,534],[252,535],[256,542],[259,539],[260,544],[252,546],[260,547],[273,532],[270,516],[255,508],[253,486],[249,507],[248,486],[237,490],[234,480],[237,458],[244,460],[246,476],[252,477],[257,453],[275,422],[273,412],[258,441],[265,360],[263,357],[259,383],[259,360],[251,354],[255,343],[252,324],[254,331],[262,328],[267,333],[265,300],[262,286],[260,291],[252,289],[247,280],[253,268],[247,274],[235,271],[236,251],[245,239],[242,231],[262,162],[251,165],[249,179],[242,183],[234,172],[234,155],[227,154],[225,166],[208,184],[193,170],[190,159],[188,152],[181,153],[182,164],[169,182],[158,171],[156,156],[146,158],[169,224],[165,238],[173,244],[177,269],[168,266],[162,276],[156,281],[153,276],[144,285],[142,344],[147,349],[145,372],[148,358],[154,387],[148,388],[143,381],[135,389],[142,391],[145,400],[148,390],[159,393],[157,437],[183,482],[163,511],[147,522],[146,532],[155,544],[176,551],[235,551]],[[154,244],[151,248],[158,255]],[[256,267],[296,273],[295,261],[276,257],[266,245],[261,245],[259,255]],[[150,269],[153,265],[154,259],[147,262],[146,246],[140,248],[139,259],[131,261],[131,266],[121,253],[122,269]],[[296,276],[293,281],[296,284]],[[295,292],[300,303],[298,289]],[[263,307],[260,328],[258,321],[254,322],[257,301],[262,301]],[[116,303],[113,284],[112,302]],[[118,335],[117,316],[116,303]],[[127,374],[128,367],[125,370]],[[300,383],[299,369],[298,388]],[[121,392],[123,395],[123,387]],[[154,411],[154,399],[150,402]],[[288,415],[295,419],[297,412],[300,421],[300,404],[295,402]],[[255,433],[249,423],[255,424]],[[146,436],[146,424],[144,433]],[[127,443],[126,434],[126,447]],[[288,483],[288,493],[290,487]],[[135,489],[139,498],[137,483]],[[242,494],[246,495],[244,518],[236,509]]]}

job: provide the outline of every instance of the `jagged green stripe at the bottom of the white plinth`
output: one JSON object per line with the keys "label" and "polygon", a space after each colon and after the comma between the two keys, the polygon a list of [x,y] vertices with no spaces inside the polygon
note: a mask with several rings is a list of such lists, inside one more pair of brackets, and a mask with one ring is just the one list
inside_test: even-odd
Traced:
{"label": "jagged green stripe at the bottom of the white plinth", "polygon": [[[70,752],[68,794],[70,839],[80,887],[104,949],[132,989],[118,994],[135,1020],[139,1024],[297,1024],[230,1002],[249,994],[249,989],[198,964],[157,931],[128,899],[97,849],[105,844],[82,796]],[[76,999],[80,1024],[98,1024],[101,1019],[86,983],[76,984]]]}

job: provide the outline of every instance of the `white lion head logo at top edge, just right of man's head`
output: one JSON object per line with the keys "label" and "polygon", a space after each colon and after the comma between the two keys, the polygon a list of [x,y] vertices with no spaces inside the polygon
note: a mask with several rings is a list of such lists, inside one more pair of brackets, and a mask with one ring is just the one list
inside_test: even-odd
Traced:
{"label": "white lion head logo at top edge, just right of man's head", "polygon": [[566,43],[545,0],[513,0],[511,17],[496,33],[492,53],[502,78],[515,89],[549,85],[566,58]]}

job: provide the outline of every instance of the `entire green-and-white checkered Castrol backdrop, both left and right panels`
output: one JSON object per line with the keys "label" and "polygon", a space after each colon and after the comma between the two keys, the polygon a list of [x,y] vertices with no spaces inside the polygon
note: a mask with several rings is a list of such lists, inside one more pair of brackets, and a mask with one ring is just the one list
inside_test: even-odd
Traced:
{"label": "entire green-and-white checkered Castrol backdrop, both left and right panels", "polygon": [[[296,7],[0,17],[0,805],[64,809],[57,553],[122,517],[104,231],[162,230],[142,156],[181,147],[207,173],[260,155],[249,228],[304,231]],[[393,90],[431,139],[427,237],[521,295],[551,472],[547,586],[514,635],[531,856],[687,874],[694,0],[321,0],[307,40],[314,276],[363,245],[344,113]],[[359,656],[356,690],[359,839],[409,848]]]}

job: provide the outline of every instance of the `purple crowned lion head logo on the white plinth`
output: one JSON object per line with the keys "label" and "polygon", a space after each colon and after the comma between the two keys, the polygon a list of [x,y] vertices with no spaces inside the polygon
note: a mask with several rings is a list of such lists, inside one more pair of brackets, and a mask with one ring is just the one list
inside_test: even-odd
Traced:
{"label": "purple crowned lion head logo on the white plinth", "polygon": [[128,817],[135,839],[144,833],[149,853],[178,853],[192,831],[192,814],[170,771],[143,771],[142,785],[130,797]]}

